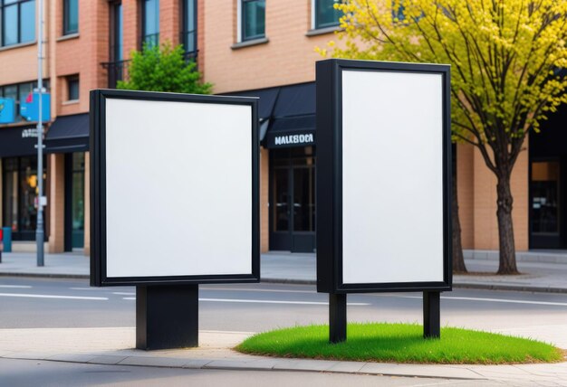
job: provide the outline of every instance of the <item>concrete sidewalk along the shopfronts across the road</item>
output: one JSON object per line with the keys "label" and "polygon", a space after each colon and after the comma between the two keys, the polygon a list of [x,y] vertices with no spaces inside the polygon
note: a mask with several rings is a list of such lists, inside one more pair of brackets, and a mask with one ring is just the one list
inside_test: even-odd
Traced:
{"label": "concrete sidewalk along the shopfronts across the road", "polygon": [[[495,275],[498,262],[490,254],[467,254],[470,257],[466,259],[467,269],[480,274],[455,276],[453,285],[455,288],[567,293],[567,255],[533,252],[530,256],[530,253],[524,253],[522,260],[518,260],[522,274],[517,276]],[[271,251],[262,254],[261,278],[265,282],[314,284],[315,266],[315,254]],[[90,261],[82,251],[46,254],[41,268],[36,266],[32,252],[3,253],[0,263],[0,276],[88,278],[89,272]]]}

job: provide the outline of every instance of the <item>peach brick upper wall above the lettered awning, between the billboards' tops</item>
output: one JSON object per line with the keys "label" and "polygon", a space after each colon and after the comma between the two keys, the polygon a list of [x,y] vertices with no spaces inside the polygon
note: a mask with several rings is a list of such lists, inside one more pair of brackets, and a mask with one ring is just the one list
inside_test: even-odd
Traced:
{"label": "peach brick upper wall above the lettered awning, between the billboards' tops", "polygon": [[233,50],[237,41],[236,0],[205,5],[205,79],[215,92],[260,89],[315,79],[315,46],[336,40],[332,33],[308,37],[309,0],[267,0],[265,36],[269,42]]}

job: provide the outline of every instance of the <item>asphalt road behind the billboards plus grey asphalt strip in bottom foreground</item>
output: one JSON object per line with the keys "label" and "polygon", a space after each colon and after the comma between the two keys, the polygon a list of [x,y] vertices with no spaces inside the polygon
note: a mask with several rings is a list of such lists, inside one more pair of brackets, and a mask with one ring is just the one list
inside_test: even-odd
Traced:
{"label": "asphalt road behind the billboards plus grey asphalt strip in bottom foreground", "polygon": [[[0,329],[135,326],[135,288],[87,280],[0,277]],[[327,296],[312,286],[243,284],[199,288],[199,328],[260,332],[326,323]],[[349,321],[422,321],[418,293],[350,295]],[[528,335],[567,348],[567,295],[458,289],[442,294],[441,324]],[[0,386],[383,385],[492,386],[500,382],[376,375],[186,370],[0,359]]]}

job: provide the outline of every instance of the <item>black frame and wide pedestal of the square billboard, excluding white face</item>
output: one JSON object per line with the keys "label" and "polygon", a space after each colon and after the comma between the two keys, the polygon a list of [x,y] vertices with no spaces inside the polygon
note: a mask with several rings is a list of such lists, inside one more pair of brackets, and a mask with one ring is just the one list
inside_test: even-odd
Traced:
{"label": "black frame and wide pedestal of the square billboard, excluding white face", "polygon": [[[107,276],[106,99],[245,105],[252,109],[251,274],[115,277]],[[91,90],[91,286],[136,286],[136,347],[156,350],[198,345],[198,285],[260,282],[260,142],[256,98],[131,90]]]}

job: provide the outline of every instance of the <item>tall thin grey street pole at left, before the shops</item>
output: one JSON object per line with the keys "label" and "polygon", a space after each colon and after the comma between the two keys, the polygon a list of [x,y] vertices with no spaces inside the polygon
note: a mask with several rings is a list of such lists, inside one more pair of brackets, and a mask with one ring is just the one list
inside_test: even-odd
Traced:
{"label": "tall thin grey street pole at left, before the shops", "polygon": [[37,266],[43,266],[43,117],[42,117],[42,94],[43,94],[43,1],[38,0],[39,28],[37,29],[37,94],[39,98],[39,114],[37,118],[37,227],[35,230],[35,242],[37,244]]}

